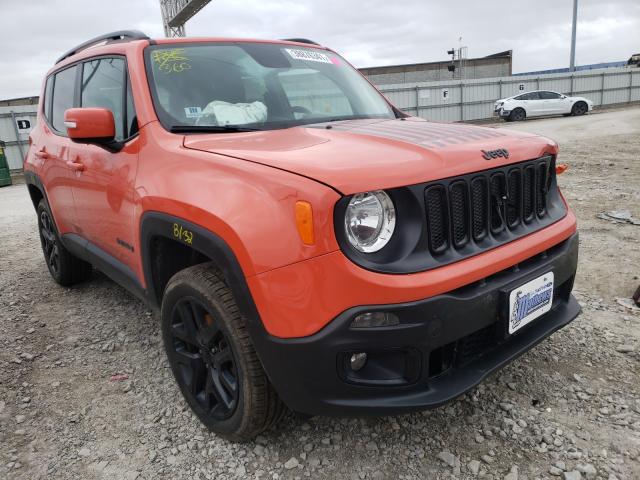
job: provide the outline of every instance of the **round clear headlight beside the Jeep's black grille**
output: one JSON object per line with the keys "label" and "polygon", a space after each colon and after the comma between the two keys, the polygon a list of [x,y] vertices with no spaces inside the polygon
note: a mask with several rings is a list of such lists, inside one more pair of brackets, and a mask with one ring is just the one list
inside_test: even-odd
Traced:
{"label": "round clear headlight beside the Jeep's black grille", "polygon": [[364,253],[384,247],[396,227],[396,209],[389,195],[382,190],[354,195],[344,216],[347,239]]}

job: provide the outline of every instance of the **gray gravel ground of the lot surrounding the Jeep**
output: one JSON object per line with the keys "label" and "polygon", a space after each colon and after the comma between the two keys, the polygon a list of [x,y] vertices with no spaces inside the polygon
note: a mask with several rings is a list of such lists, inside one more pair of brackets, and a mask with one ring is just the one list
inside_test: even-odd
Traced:
{"label": "gray gravel ground of the lot surrounding the Jeep", "polygon": [[246,444],[190,413],[143,304],[99,273],[53,283],[25,187],[0,189],[0,478],[640,478],[640,226],[598,217],[640,218],[640,108],[507,128],[570,164],[583,314],[444,408],[289,415]]}

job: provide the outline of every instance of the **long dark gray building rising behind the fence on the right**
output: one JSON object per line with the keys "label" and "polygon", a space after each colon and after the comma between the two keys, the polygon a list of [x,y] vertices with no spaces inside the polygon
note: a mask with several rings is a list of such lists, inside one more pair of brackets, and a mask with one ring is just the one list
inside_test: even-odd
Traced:
{"label": "long dark gray building rising behind the fence on the right", "polygon": [[[386,67],[360,68],[368,79],[375,85],[390,85],[399,83],[439,82],[454,78],[448,70],[451,60],[428,63],[411,63],[408,65],[390,65]],[[455,78],[460,78],[458,60],[455,61]],[[464,78],[492,78],[511,76],[512,51],[495,53],[481,58],[467,58],[464,60]]]}

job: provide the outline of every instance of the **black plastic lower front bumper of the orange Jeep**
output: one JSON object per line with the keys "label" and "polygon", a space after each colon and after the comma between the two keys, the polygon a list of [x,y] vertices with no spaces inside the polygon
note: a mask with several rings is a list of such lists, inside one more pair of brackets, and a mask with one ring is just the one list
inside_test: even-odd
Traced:
{"label": "black plastic lower front bumper of the orange Jeep", "polygon": [[[578,234],[488,278],[416,302],[351,308],[320,332],[265,335],[260,358],[282,400],[312,415],[397,414],[437,407],[461,395],[571,322]],[[551,311],[509,336],[509,292],[543,273],[555,277]],[[395,327],[352,329],[362,312],[398,316]],[[352,353],[366,352],[359,372]]]}

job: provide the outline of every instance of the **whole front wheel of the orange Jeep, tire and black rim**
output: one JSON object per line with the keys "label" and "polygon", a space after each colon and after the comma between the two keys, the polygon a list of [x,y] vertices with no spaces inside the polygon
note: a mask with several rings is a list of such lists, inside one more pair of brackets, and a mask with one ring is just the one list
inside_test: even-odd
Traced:
{"label": "whole front wheel of the orange Jeep, tire and black rim", "polygon": [[162,299],[162,337],[185,400],[211,431],[250,440],[285,411],[222,274],[204,263],[175,274]]}

